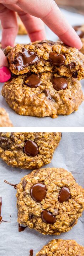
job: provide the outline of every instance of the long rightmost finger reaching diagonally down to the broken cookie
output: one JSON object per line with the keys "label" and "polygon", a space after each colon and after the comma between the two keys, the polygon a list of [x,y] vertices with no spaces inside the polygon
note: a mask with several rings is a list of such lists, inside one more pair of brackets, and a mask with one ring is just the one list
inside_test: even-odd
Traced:
{"label": "long rightmost finger reaching diagonally down to the broken cookie", "polygon": [[[0,0],[1,3],[11,4],[12,0]],[[14,0],[23,11],[41,18],[48,27],[67,45],[82,48],[82,42],[69,25],[57,4],[53,0]]]}

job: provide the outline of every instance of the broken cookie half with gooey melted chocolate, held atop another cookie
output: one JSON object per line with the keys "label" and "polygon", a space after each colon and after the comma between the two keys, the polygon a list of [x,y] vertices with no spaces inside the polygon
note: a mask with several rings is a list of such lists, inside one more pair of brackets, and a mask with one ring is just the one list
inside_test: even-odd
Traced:
{"label": "broken cookie half with gooey melted chocolate, held atop another cookie", "polygon": [[84,55],[76,48],[62,42],[36,41],[18,44],[7,55],[9,67],[16,75],[54,72],[62,76],[84,78]]}

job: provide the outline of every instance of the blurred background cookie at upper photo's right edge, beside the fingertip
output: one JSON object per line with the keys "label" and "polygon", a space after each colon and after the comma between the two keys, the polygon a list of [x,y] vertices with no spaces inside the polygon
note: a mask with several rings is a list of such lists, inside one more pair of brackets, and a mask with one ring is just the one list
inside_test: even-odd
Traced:
{"label": "blurred background cookie at upper photo's right edge, beside the fingertip", "polygon": [[80,37],[83,47],[80,50],[84,54],[84,25],[76,25],[73,27],[75,31],[77,32],[78,36]]}

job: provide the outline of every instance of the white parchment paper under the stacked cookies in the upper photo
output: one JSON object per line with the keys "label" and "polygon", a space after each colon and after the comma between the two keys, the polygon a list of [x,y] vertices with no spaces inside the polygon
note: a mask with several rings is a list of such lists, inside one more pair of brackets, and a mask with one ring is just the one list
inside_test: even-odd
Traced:
{"label": "white parchment paper under the stacked cookies in the upper photo", "polygon": [[[69,11],[62,10],[63,14],[69,21],[71,25],[79,25],[84,23],[84,16],[76,13],[71,13]],[[57,36],[46,27],[47,39],[56,41]],[[17,36],[16,43],[28,43],[30,39],[28,36]],[[2,84],[0,84],[0,88],[2,88]],[[84,80],[82,80],[82,90],[84,92]],[[72,113],[69,116],[59,116],[58,118],[51,117],[31,117],[31,116],[20,116],[16,114],[5,102],[5,99],[0,94],[0,106],[4,107],[6,111],[9,113],[10,119],[14,126],[16,127],[27,127],[27,126],[84,126],[84,102],[79,107],[77,112]]]}

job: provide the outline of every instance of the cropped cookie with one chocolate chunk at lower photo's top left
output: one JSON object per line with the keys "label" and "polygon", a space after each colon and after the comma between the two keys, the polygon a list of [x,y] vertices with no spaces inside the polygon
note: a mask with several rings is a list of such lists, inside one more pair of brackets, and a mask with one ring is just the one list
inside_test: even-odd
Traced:
{"label": "cropped cookie with one chocolate chunk at lower photo's top left", "polygon": [[51,162],[61,132],[0,132],[0,157],[12,167],[40,168]]}

